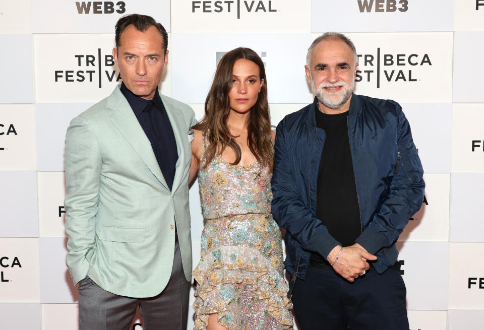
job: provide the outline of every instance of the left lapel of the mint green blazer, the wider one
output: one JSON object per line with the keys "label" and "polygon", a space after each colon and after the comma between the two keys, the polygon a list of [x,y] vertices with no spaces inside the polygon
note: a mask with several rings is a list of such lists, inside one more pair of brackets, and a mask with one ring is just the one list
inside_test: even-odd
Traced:
{"label": "left lapel of the mint green blazer, the wider one", "polygon": [[133,147],[133,150],[138,156],[140,156],[146,166],[150,169],[151,173],[153,173],[161,184],[169,190],[155,154],[153,153],[150,140],[146,137],[146,134],[143,128],[141,128],[138,118],[136,118],[130,104],[119,90],[119,86],[117,86],[109,96],[106,106],[114,110],[111,115],[111,121],[113,124],[119,129],[126,140],[128,140]]}

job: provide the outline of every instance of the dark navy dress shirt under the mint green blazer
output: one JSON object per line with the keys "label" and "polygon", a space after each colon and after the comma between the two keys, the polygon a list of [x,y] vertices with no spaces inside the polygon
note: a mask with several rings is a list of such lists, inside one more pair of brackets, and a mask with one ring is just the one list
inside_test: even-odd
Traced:
{"label": "dark navy dress shirt under the mint green blazer", "polygon": [[178,151],[176,150],[173,128],[158,91],[156,91],[152,100],[145,100],[133,94],[122,83],[121,92],[128,100],[148,140],[150,140],[161,173],[171,190]]}

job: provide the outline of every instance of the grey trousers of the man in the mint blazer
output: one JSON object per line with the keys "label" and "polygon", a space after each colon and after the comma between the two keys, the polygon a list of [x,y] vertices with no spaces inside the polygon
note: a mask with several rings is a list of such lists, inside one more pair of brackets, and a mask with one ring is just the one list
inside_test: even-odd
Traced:
{"label": "grey trousers of the man in the mint blazer", "polygon": [[143,330],[186,330],[190,282],[185,279],[178,242],[171,277],[155,297],[130,298],[100,288],[89,277],[79,284],[79,330],[129,330],[140,306]]}

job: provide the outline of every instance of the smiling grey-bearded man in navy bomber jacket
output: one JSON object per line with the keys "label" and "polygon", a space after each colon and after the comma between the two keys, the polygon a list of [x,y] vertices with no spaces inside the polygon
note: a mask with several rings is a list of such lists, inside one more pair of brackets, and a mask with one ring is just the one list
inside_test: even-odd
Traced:
{"label": "smiling grey-bearded man in navy bomber jacket", "polygon": [[272,212],[303,330],[408,330],[395,242],[423,202],[423,169],[400,105],[353,94],[357,60],[344,35],[318,37],[314,102],[276,130]]}

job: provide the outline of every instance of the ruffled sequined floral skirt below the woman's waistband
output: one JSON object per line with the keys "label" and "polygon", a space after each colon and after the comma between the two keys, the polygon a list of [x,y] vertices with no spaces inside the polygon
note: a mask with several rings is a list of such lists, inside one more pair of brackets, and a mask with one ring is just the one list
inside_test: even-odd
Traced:
{"label": "ruffled sequined floral skirt below the woman's waistband", "polygon": [[209,219],[202,232],[194,329],[208,314],[229,330],[292,329],[279,226],[271,214]]}

